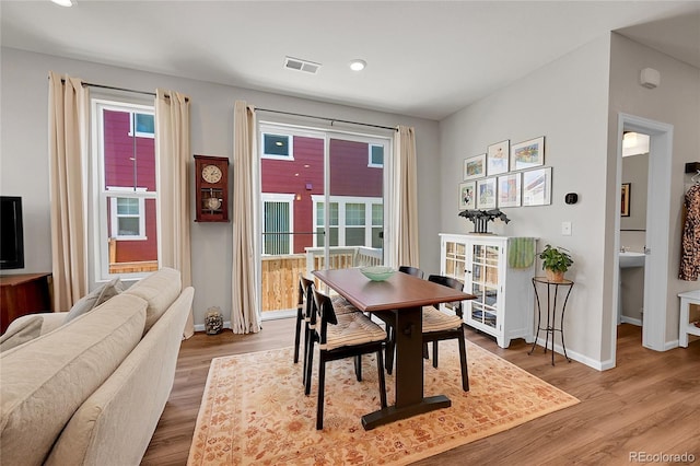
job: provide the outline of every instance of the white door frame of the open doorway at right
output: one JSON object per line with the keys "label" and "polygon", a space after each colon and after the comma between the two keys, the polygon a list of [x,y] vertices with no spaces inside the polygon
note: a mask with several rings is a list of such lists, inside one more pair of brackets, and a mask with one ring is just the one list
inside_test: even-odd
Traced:
{"label": "white door frame of the open doorway at right", "polygon": [[[666,308],[668,294],[668,235],[670,206],[670,162],[673,153],[673,126],[632,115],[618,117],[617,205],[621,206],[622,138],[625,131],[649,135],[649,177],[646,188],[646,220],[644,246],[644,314],[642,319],[642,346],[656,351],[666,350]],[[656,221],[660,219],[660,221]],[[620,215],[616,217],[616,251],[620,251]],[[614,265],[614,302],[619,302],[619,255]],[[612,312],[612,356],[617,342],[617,313]]]}

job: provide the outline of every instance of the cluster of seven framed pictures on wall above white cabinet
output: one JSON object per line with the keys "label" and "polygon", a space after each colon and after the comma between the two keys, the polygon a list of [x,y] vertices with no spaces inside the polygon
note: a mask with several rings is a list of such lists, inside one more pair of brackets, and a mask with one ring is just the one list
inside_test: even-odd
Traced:
{"label": "cluster of seven framed pictures on wall above white cabinet", "polygon": [[465,159],[459,210],[551,203],[551,166],[545,166],[545,137],[491,144]]}

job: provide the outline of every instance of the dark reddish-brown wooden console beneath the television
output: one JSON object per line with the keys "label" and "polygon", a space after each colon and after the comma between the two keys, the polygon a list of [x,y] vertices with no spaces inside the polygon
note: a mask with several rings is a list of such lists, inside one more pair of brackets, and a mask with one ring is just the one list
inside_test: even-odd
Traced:
{"label": "dark reddish-brown wooden console beneath the television", "polygon": [[20,316],[51,312],[51,273],[2,276],[0,289],[0,334]]}

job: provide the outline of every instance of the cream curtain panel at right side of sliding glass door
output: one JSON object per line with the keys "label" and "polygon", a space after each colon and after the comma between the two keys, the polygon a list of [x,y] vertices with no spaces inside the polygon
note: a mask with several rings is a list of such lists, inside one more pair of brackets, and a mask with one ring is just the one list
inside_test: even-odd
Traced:
{"label": "cream curtain panel at right side of sliding glass door", "polygon": [[416,167],[416,130],[399,126],[394,135],[395,195],[393,231],[395,242],[393,257],[396,266],[419,267],[418,246],[418,186]]}

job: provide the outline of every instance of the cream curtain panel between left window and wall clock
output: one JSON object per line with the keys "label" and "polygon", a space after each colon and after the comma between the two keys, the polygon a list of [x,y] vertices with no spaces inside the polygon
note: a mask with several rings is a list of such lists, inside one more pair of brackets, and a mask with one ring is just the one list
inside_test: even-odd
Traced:
{"label": "cream curtain panel between left window and wall clock", "polygon": [[[161,265],[180,271],[183,287],[191,286],[189,228],[189,97],[174,91],[155,91],[156,158]],[[184,337],[195,334],[192,311]]]}

